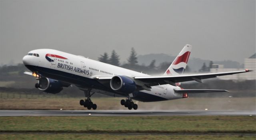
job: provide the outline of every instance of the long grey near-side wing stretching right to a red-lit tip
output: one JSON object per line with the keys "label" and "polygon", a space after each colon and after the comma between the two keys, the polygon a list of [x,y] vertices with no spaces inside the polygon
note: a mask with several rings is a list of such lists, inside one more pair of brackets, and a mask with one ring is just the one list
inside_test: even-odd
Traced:
{"label": "long grey near-side wing stretching right to a red-lit tip", "polygon": [[175,75],[175,76],[135,76],[135,80],[140,80],[148,86],[156,86],[162,84],[171,84],[176,86],[175,83],[186,81],[202,82],[202,79],[215,78],[217,76],[239,74],[244,72],[250,72],[252,70],[239,70],[233,72],[216,72],[216,73],[204,73],[204,74],[187,74],[187,75]]}

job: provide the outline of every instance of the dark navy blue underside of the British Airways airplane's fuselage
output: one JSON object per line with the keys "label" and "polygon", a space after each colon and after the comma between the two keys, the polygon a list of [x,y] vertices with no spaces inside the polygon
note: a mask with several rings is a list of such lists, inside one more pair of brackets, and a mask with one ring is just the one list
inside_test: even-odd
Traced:
{"label": "dark navy blue underside of the British Airways airplane's fuselage", "polygon": [[[84,88],[92,88],[92,92],[97,92],[100,94],[104,94],[107,96],[115,96],[115,97],[126,97],[125,94],[120,94],[117,92],[112,92],[111,89],[106,89],[105,86],[100,84],[98,81],[86,78],[83,76],[71,74],[68,72],[55,70],[51,68],[45,68],[40,66],[31,66],[26,65],[26,67],[31,71],[36,71],[42,74],[43,76],[47,78],[52,78],[54,80],[60,80],[63,82],[67,82],[69,84],[74,84],[79,87]],[[168,97],[168,93],[164,94],[162,90],[158,91],[157,89],[153,88],[153,91],[138,91],[136,92],[136,96],[131,97],[133,100],[138,100],[141,102],[157,102],[157,101],[164,101],[164,100],[172,100],[174,98]],[[160,93],[162,92],[162,93]]]}

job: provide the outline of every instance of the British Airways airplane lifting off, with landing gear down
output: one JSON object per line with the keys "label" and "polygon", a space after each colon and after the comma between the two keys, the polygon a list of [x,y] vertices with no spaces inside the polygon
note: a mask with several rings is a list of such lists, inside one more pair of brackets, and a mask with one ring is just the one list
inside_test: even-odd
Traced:
{"label": "British Airways airplane lifting off, with landing gear down", "polygon": [[91,100],[94,93],[114,97],[124,97],[120,104],[136,110],[141,102],[157,102],[188,98],[188,94],[229,92],[227,90],[183,89],[181,82],[215,78],[230,74],[250,72],[239,70],[233,72],[216,72],[202,74],[183,74],[188,63],[192,46],[186,44],[163,75],[151,76],[118,66],[98,62],[66,52],[52,49],[38,49],[28,52],[23,57],[23,64],[31,71],[24,72],[36,77],[35,87],[51,94],[57,94],[63,87],[72,85],[84,91],[85,99],[80,105],[88,110],[97,108]]}

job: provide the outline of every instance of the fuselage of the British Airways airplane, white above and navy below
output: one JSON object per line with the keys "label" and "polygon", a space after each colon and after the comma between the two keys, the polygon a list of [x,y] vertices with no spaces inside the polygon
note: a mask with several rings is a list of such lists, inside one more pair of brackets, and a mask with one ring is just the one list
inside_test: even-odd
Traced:
{"label": "fuselage of the British Airways airplane, white above and navy below", "polygon": [[[60,80],[63,82],[67,82],[69,84],[74,84],[79,88],[92,88],[95,92],[99,92],[101,94],[113,95],[118,94],[114,90],[111,91],[109,88],[97,88],[94,85],[96,82],[95,78],[97,76],[106,76],[113,77],[116,75],[124,75],[129,77],[135,76],[148,76],[147,74],[143,74],[140,72],[135,72],[133,70],[128,70],[125,68],[121,68],[118,66],[113,66],[110,64],[98,62],[95,60],[91,60],[88,58],[84,58],[83,56],[76,56],[73,54],[69,54],[66,52],[61,52],[58,50],[52,49],[38,49],[32,50],[28,53],[38,54],[39,57],[34,55],[26,55],[23,58],[23,62],[25,66],[27,66],[33,72],[39,72],[42,76],[47,78],[52,78],[54,80]],[[54,56],[46,56],[47,54],[54,54]],[[61,56],[61,57],[59,57]],[[53,61],[49,61],[49,58]],[[94,82],[88,82],[83,78],[88,78],[90,80],[95,80]],[[66,79],[66,80],[65,80]],[[72,80],[71,80],[72,79]],[[81,84],[79,84],[81,83]],[[84,84],[83,84],[84,83]],[[90,86],[90,87],[88,87]],[[183,94],[177,94],[174,92],[174,88],[180,89],[178,86],[172,86],[170,84],[164,84],[159,86],[152,86],[151,91],[140,90],[140,93],[143,93],[143,96],[152,96],[152,98],[163,98],[165,100],[173,100],[182,98]],[[121,96],[126,96],[122,95]],[[134,100],[140,100],[134,98]],[[157,100],[141,100],[144,102],[151,102]]]}

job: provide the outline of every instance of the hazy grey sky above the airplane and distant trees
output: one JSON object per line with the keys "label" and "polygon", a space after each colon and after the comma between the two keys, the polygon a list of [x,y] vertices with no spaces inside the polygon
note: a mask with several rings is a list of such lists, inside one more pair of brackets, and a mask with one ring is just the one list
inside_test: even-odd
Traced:
{"label": "hazy grey sky above the airplane and distant trees", "polygon": [[[111,50],[243,63],[256,52],[255,0],[0,0],[0,64],[52,48],[97,59]],[[170,60],[171,61],[171,60]]]}

